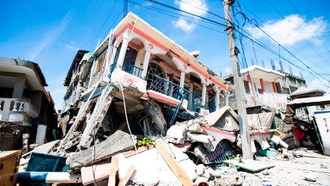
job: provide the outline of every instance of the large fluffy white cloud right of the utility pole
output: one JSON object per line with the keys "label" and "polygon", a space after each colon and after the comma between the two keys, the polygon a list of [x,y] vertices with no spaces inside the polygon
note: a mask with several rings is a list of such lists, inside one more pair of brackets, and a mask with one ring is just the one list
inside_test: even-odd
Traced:
{"label": "large fluffy white cloud right of the utility pole", "polygon": [[[267,21],[261,29],[281,45],[294,45],[304,39],[319,43],[314,32],[322,32],[326,27],[327,23],[323,17],[314,18],[306,23],[303,17],[292,14],[278,21]],[[247,29],[256,39],[270,39],[258,28],[250,26]]]}

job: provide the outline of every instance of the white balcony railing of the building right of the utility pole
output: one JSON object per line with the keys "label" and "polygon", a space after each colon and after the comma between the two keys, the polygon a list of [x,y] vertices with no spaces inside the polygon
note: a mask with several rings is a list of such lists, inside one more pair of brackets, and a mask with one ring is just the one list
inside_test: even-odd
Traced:
{"label": "white balcony railing of the building right of the utility pole", "polygon": [[285,109],[287,105],[287,94],[278,94],[275,92],[254,92],[254,99],[251,93],[245,93],[245,101],[248,107],[254,106],[270,106],[278,109]]}

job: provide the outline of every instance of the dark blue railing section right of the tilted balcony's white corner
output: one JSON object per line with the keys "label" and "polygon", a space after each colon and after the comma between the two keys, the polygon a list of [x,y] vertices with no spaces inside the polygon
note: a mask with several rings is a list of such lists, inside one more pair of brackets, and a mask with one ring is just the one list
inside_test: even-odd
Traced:
{"label": "dark blue railing section right of the tilted balcony's white corner", "polygon": [[154,90],[155,92],[165,94],[166,96],[171,96],[180,101],[184,100],[186,98],[186,94],[189,92],[179,85],[153,74],[148,74],[146,83],[146,90]]}

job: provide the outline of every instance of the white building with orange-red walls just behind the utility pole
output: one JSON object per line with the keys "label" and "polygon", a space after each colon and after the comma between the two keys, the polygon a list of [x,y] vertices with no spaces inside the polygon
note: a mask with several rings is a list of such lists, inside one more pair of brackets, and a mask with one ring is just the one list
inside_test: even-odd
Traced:
{"label": "white building with orange-red walls just behind the utility pole", "polygon": [[[232,75],[223,79],[234,85]],[[271,70],[258,65],[241,70],[241,80],[244,81],[246,106],[268,106],[285,110],[289,94],[307,87],[305,79],[288,74],[281,70]],[[229,95],[229,105],[236,108],[236,98],[233,93]]]}

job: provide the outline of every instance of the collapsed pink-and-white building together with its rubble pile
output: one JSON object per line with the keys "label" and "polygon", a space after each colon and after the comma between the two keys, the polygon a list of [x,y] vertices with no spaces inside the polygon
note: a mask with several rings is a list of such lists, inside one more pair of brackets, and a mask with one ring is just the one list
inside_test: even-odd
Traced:
{"label": "collapsed pink-and-white building together with its rubble pile", "polygon": [[[36,148],[29,164],[55,158],[61,167],[36,163],[46,183],[115,185],[118,175],[119,185],[241,185],[240,161],[232,160],[242,144],[239,116],[227,106],[231,87],[198,55],[127,14],[94,52],[78,50],[64,83],[65,137]],[[287,147],[273,119],[274,112],[249,117],[252,152],[270,153],[270,142]],[[230,167],[212,167],[226,161]],[[40,181],[32,167],[20,182]]]}

